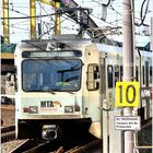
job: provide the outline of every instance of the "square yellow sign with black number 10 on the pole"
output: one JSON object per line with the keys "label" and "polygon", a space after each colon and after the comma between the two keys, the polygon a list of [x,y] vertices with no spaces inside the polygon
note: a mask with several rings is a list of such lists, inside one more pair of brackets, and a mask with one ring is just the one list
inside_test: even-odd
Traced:
{"label": "square yellow sign with black number 10 on the pole", "polygon": [[116,83],[116,106],[117,107],[139,107],[139,82],[117,82]]}

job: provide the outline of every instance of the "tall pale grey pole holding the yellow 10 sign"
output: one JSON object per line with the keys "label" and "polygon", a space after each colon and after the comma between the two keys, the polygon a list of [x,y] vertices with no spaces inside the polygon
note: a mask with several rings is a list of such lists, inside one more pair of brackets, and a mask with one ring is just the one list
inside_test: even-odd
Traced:
{"label": "tall pale grey pole holding the yellow 10 sign", "polygon": [[[122,0],[122,60],[123,81],[133,80],[133,10],[132,0]],[[132,108],[123,108],[123,116],[132,116]],[[133,153],[133,132],[125,131],[125,153]]]}

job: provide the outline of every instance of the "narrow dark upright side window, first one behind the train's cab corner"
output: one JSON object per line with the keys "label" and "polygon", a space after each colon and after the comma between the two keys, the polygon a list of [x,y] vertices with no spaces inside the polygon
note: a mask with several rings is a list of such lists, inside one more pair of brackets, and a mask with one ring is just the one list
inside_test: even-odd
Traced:
{"label": "narrow dark upright side window, first one behind the train's cab corner", "polygon": [[108,64],[107,67],[107,76],[108,76],[108,89],[114,85],[114,67]]}

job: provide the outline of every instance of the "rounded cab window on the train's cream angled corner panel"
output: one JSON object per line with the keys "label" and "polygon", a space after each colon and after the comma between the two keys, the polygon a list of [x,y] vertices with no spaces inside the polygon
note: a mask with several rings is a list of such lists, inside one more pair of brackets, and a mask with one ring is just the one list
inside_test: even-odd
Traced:
{"label": "rounded cab window on the train's cream angled corner panel", "polygon": [[99,89],[99,71],[96,63],[91,63],[87,67],[87,90],[96,91]]}

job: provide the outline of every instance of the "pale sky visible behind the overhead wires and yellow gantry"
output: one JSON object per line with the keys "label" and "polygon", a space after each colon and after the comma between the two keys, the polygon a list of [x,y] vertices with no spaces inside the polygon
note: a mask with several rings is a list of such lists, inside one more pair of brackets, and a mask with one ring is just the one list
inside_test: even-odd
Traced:
{"label": "pale sky visible behind the overhead wires and yellow gantry", "polygon": [[[148,1],[148,0],[146,0]],[[91,17],[95,21],[95,23],[99,27],[104,26],[122,26],[122,0],[111,0],[110,5],[107,8],[107,17],[105,22],[102,20],[102,3],[107,3],[108,0],[75,0],[80,7],[83,8],[91,8],[92,13]],[[141,4],[143,0],[134,0],[134,22],[140,23],[140,10]],[[28,16],[30,15],[30,0],[19,1],[19,0],[10,0],[9,1],[9,10],[10,10],[10,16]],[[2,7],[2,5],[0,5]],[[146,2],[144,4],[143,12],[145,11]],[[146,17],[144,23],[151,25],[151,16],[153,16],[153,2],[150,0],[149,10],[146,13]],[[2,10],[2,9],[0,9]],[[50,5],[43,4],[36,2],[36,14],[37,15],[44,15],[44,14],[51,14],[55,12],[55,9]],[[2,16],[2,12],[1,12]],[[55,26],[55,16],[47,16],[42,17],[36,21],[37,23],[42,23],[43,26],[43,38],[50,38],[54,34],[54,26]],[[69,26],[68,26],[69,25]],[[61,33],[78,33],[79,25],[76,25],[74,22],[67,20],[66,17],[61,19]],[[49,32],[50,31],[50,32]],[[149,42],[150,37],[144,36],[143,31],[148,31],[148,27],[136,26],[136,32],[139,33],[143,39],[137,38],[136,42],[140,44],[145,44]],[[1,21],[1,34],[2,34],[2,21]],[[141,37],[139,35],[139,37]],[[121,40],[122,37],[120,34],[118,35],[108,35],[108,37],[113,39],[119,39]],[[22,20],[10,20],[10,42],[11,43],[19,43],[22,39],[30,39],[30,19],[22,19]],[[141,42],[140,42],[141,40]]]}

